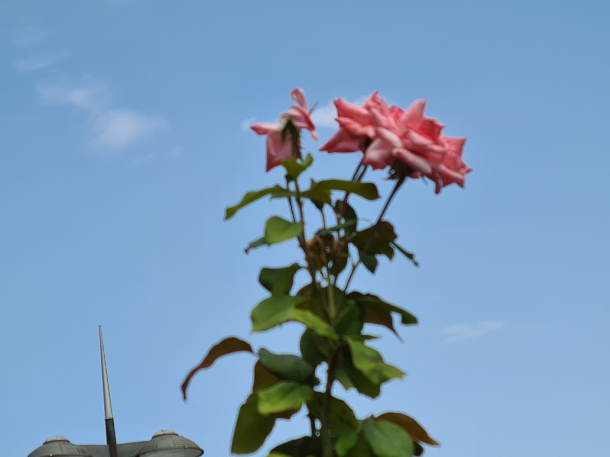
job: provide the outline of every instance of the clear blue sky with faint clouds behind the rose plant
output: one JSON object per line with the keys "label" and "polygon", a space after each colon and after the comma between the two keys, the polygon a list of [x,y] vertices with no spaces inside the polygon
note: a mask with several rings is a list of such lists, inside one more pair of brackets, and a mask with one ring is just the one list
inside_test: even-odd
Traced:
{"label": "clear blue sky with faint clouds behind the rose plant", "polygon": [[[404,344],[378,343],[409,375],[376,402],[337,394],[362,417],[417,417],[442,442],[431,457],[604,455],[609,19],[601,1],[0,2],[4,453],[104,442],[101,324],[118,440],[172,428],[229,454],[253,359],[199,374],[186,404],[179,383],[224,335],[296,347],[297,325],[249,336],[248,322],[258,269],[295,246],[242,250],[285,208],[222,219],[282,179],[243,126],[299,86],[321,142],[334,97],[425,97],[474,169],[465,190],[409,182],[395,200],[419,269],[356,277],[420,318]],[[323,176],[357,163],[315,158]],[[282,423],[259,455],[305,430]]]}

